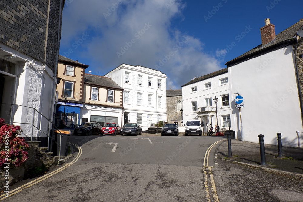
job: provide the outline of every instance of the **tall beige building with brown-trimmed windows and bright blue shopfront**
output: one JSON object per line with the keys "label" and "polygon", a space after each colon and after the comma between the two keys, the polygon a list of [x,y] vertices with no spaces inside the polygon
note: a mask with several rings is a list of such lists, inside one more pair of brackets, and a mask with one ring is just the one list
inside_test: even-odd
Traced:
{"label": "tall beige building with brown-trimmed windows and bright blue shopfront", "polygon": [[[57,85],[58,102],[56,104],[55,123],[59,127],[64,119],[67,128],[74,128],[80,124],[80,111],[85,101],[84,74],[88,65],[59,55]],[[64,94],[68,96],[65,100]]]}

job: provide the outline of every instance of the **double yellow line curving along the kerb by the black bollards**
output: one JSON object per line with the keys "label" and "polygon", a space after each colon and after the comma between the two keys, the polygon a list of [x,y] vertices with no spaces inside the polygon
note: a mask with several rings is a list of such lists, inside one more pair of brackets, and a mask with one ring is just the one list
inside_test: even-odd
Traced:
{"label": "double yellow line curving along the kerb by the black bollards", "polygon": [[215,200],[215,202],[219,202],[219,198],[217,195],[217,191],[216,191],[216,185],[215,185],[215,181],[214,181],[214,176],[212,175],[211,172],[211,168],[213,166],[209,166],[209,152],[212,149],[212,147],[214,147],[216,144],[218,144],[219,142],[224,141],[224,140],[219,140],[217,142],[215,142],[214,144],[212,144],[210,147],[208,147],[208,149],[205,152],[205,156],[204,156],[204,161],[203,161],[203,177],[204,177],[204,186],[205,186],[205,192],[206,192],[206,199],[208,202],[211,201],[210,199],[210,195],[209,195],[209,188],[208,188],[208,179],[207,179],[207,174],[209,174],[209,181],[211,183],[211,190],[212,190],[212,197]]}

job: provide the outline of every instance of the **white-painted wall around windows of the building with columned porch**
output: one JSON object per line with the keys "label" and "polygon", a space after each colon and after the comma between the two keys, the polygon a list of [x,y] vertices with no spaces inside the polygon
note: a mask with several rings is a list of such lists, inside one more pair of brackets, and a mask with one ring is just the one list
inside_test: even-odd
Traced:
{"label": "white-painted wall around windows of the building with columned porch", "polygon": [[[192,111],[192,102],[197,101],[198,111],[199,108],[205,107],[205,99],[211,98],[213,111],[216,111],[215,108],[215,102],[214,98],[217,97],[218,103],[217,103],[217,111],[218,111],[218,125],[220,128],[223,128],[223,115],[230,115],[231,116],[231,107],[230,106],[222,106],[221,101],[221,95],[229,94],[229,97],[231,97],[231,94],[229,93],[229,85],[227,84],[221,84],[221,79],[227,78],[228,73],[224,73],[221,75],[217,75],[215,77],[207,78],[203,81],[198,81],[193,84],[189,84],[182,87],[182,95],[183,95],[183,123],[186,123],[186,121],[190,119],[198,119],[200,121],[204,122],[204,132],[207,131],[207,128],[209,127],[209,124],[212,122],[212,126],[214,127],[217,124],[216,120],[216,114],[214,113],[210,120],[207,120],[207,118],[200,118],[199,115],[196,113],[196,111]],[[211,82],[211,88],[205,88],[205,84]],[[229,82],[229,80],[228,80]],[[192,92],[191,88],[197,87],[196,92]],[[208,124],[208,125],[207,125]],[[231,123],[231,130],[233,129],[234,124]],[[225,127],[228,128],[228,127]]]}

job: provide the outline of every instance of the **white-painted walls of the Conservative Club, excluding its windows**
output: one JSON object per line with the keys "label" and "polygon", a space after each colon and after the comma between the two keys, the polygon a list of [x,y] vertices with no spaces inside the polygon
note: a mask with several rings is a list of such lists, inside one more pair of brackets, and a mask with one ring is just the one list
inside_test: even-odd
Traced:
{"label": "white-painted walls of the Conservative Club, excluding its windows", "polygon": [[[125,71],[129,72],[129,83],[124,82]],[[142,85],[138,85],[137,77],[142,75]],[[122,64],[118,68],[104,75],[105,77],[112,78],[119,86],[125,91],[130,92],[129,103],[124,101],[123,92],[123,107],[124,112],[129,112],[128,119],[130,122],[137,121],[137,113],[142,113],[142,130],[148,129],[148,114],[153,114],[153,120],[155,115],[162,115],[162,121],[167,121],[166,116],[166,75],[161,71],[145,68],[141,66],[132,66]],[[148,77],[152,77],[152,87],[148,87]],[[157,87],[157,80],[161,79],[161,88]],[[137,93],[142,93],[142,104],[137,104]],[[152,95],[152,105],[148,106],[148,94]],[[161,96],[161,107],[157,107],[157,96]],[[123,114],[124,115],[124,114]],[[124,117],[122,118],[122,122]]]}

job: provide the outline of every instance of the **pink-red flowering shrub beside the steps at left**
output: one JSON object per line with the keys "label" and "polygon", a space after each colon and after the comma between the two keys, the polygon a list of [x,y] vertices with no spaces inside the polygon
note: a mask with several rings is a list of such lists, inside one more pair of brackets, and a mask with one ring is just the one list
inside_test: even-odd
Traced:
{"label": "pink-red flowering shrub beside the steps at left", "polygon": [[20,126],[10,126],[0,118],[0,167],[4,167],[5,162],[18,167],[28,159],[29,146],[23,137],[17,137],[19,134]]}

